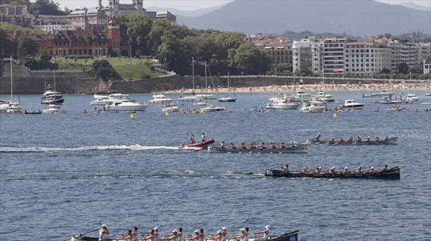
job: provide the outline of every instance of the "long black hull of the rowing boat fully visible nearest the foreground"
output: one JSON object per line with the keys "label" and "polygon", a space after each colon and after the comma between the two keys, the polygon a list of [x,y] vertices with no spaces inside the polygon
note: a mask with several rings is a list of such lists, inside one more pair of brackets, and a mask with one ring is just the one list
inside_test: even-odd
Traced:
{"label": "long black hull of the rowing boat fully visible nearest the foreground", "polygon": [[335,171],[333,173],[314,173],[314,172],[300,172],[300,171],[281,171],[266,169],[266,176],[280,177],[280,178],[379,178],[379,179],[400,179],[401,168],[398,166],[388,169],[386,171],[370,171],[370,172],[344,172]]}

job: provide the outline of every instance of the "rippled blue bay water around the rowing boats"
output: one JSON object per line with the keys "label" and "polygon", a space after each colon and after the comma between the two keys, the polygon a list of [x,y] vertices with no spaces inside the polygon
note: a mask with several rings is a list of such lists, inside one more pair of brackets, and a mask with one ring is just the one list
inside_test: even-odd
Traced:
{"label": "rippled blue bay water around the rowing boats", "polygon": [[[0,240],[64,240],[109,225],[168,233],[222,226],[228,233],[271,226],[300,230],[300,240],[430,240],[431,112],[382,111],[365,92],[334,92],[365,109],[338,113],[255,113],[272,94],[238,94],[220,104],[233,113],[82,115],[93,97],[66,96],[66,115],[0,115]],[[424,101],[425,92],[414,92]],[[405,93],[406,94],[406,93]],[[135,94],[148,101],[150,94]],[[169,96],[169,95],[168,95]],[[170,95],[177,99],[179,95]],[[42,109],[40,96],[21,96]],[[0,99],[8,99],[3,96]],[[336,104],[333,104],[335,106]],[[382,106],[385,109],[389,106]],[[307,154],[215,154],[175,147],[194,132],[217,142],[305,141],[331,136],[398,136],[398,145],[312,147]],[[401,166],[401,180],[264,178],[265,168]],[[22,232],[23,230],[24,233]],[[24,235],[24,236],[23,236]],[[93,234],[95,235],[95,234]]]}

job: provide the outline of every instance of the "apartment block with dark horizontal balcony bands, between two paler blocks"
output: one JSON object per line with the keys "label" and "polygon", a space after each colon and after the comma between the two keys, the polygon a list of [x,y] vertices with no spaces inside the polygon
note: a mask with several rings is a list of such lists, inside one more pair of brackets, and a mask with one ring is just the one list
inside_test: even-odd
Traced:
{"label": "apartment block with dark horizontal balcony bands, between two paler blocks", "polygon": [[344,44],[346,44],[346,38],[333,37],[324,40],[323,70],[325,76],[343,76]]}

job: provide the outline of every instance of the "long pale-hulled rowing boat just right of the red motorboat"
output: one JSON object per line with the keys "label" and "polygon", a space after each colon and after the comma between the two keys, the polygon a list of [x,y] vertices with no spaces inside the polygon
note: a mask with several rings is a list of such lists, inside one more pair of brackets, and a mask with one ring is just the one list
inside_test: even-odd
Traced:
{"label": "long pale-hulled rowing boat just right of the red motorboat", "polygon": [[225,153],[302,153],[308,152],[308,144],[295,144],[293,147],[285,146],[283,148],[222,148],[222,147],[208,147],[208,152],[225,152]]}

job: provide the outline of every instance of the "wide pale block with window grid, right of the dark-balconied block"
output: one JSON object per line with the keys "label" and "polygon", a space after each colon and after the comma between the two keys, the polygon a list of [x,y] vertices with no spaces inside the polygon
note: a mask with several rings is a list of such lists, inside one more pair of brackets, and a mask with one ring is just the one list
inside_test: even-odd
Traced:
{"label": "wide pale block with window grid, right of the dark-balconied block", "polygon": [[354,76],[369,76],[391,68],[391,48],[370,36],[346,43],[345,54],[344,71]]}

